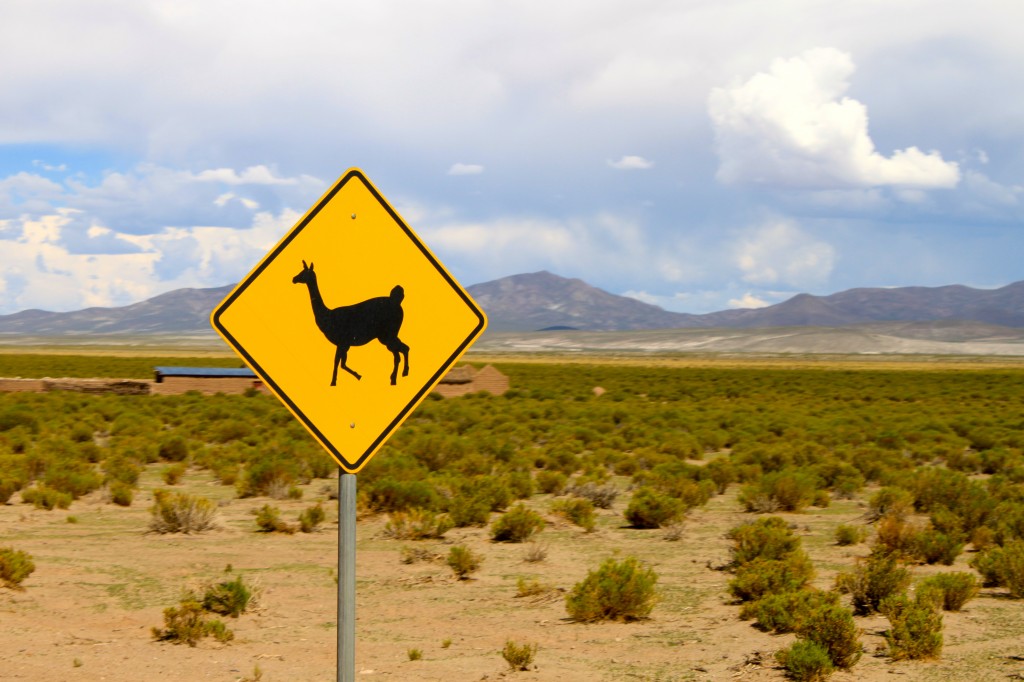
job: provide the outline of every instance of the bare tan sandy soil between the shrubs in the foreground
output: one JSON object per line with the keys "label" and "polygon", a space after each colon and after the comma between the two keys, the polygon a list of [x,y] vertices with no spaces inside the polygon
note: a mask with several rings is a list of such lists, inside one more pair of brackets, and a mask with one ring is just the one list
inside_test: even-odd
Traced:
{"label": "bare tan sandy soil between the shrubs in the foreground", "polygon": [[[158,468],[143,477],[130,508],[106,504],[99,494],[67,511],[23,504],[0,506],[0,546],[25,550],[37,570],[15,592],[0,589],[0,679],[6,681],[139,680],[266,682],[336,679],[337,525],[294,536],[255,532],[251,511],[270,502],[288,520],[324,497],[325,481],[305,488],[301,501],[238,500],[232,488],[190,472],[181,486],[220,502],[220,528],[197,536],[147,535]],[[14,497],[17,500],[17,496]],[[334,502],[329,503],[334,509]],[[530,503],[547,512],[549,496]],[[598,529],[580,528],[548,514],[538,537],[546,560],[523,560],[524,545],[494,544],[485,528],[455,529],[444,541],[386,539],[382,517],[361,519],[357,553],[358,679],[521,679],[557,682],[604,680],[781,680],[772,654],[792,635],[759,632],[738,619],[725,592],[729,574],[714,569],[728,557],[724,532],[751,518],[733,495],[691,513],[683,538],[668,542],[659,530],[623,527],[621,496],[602,511]],[[818,568],[815,581],[830,586],[866,545],[837,547],[833,529],[856,522],[857,501],[785,515],[799,527]],[[69,522],[73,520],[73,522]],[[332,515],[329,520],[335,520]],[[400,561],[402,547],[437,556],[465,543],[484,558],[473,580],[453,579],[443,560]],[[581,625],[566,620],[564,593],[612,555],[636,555],[659,574],[662,599],[648,621]],[[967,569],[969,555],[950,567],[918,567],[915,578]],[[154,626],[182,591],[232,574],[257,583],[262,595],[254,613],[228,620],[236,639],[197,647],[157,642]],[[519,578],[540,580],[547,595],[517,598]],[[945,614],[945,648],[934,662],[891,662],[884,653],[882,616],[859,619],[866,653],[848,673],[852,680],[1024,679],[1024,602],[1001,590],[985,590],[958,613]],[[536,667],[508,670],[500,651],[507,640],[537,643]],[[422,659],[410,660],[411,649]]]}

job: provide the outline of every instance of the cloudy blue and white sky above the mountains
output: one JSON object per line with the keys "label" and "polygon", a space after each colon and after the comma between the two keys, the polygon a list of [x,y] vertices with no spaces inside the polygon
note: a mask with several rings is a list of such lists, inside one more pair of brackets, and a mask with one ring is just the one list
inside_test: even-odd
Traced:
{"label": "cloudy blue and white sky above the mountains", "polygon": [[4,0],[0,314],[238,282],[360,168],[464,286],[1024,280],[1019,0]]}

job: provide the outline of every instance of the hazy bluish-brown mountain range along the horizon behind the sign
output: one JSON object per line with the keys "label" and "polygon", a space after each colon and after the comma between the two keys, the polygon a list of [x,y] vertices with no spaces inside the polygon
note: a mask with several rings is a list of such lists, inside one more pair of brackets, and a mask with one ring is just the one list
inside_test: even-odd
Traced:
{"label": "hazy bluish-brown mountain range along the horizon behind the sign", "polygon": [[[210,312],[230,290],[231,286],[178,289],[132,305],[74,312],[24,310],[0,315],[0,334],[212,335]],[[951,285],[850,289],[829,296],[799,294],[763,308],[707,314],[671,312],[551,272],[516,274],[467,290],[487,313],[490,332],[845,327],[951,321],[1024,328],[1024,282],[992,290]]]}

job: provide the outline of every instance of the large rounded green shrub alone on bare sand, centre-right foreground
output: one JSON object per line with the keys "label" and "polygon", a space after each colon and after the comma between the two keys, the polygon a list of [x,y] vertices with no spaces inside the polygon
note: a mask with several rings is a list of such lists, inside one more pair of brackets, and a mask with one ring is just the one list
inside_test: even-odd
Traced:
{"label": "large rounded green shrub alone on bare sand, centre-right foreground", "polygon": [[565,597],[574,621],[638,621],[650,614],[657,599],[657,573],[636,557],[607,559]]}

